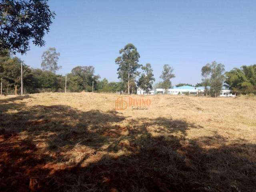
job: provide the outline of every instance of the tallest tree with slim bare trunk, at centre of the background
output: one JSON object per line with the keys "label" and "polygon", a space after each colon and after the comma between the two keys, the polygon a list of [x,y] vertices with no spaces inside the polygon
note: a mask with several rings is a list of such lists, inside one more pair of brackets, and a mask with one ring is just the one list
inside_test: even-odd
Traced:
{"label": "tallest tree with slim bare trunk, at centre of the background", "polygon": [[119,56],[116,58],[115,62],[118,64],[117,74],[118,78],[120,78],[123,82],[127,82],[128,94],[130,94],[130,80],[134,80],[134,76],[138,75],[138,68],[140,68],[140,64],[138,64],[140,54],[137,51],[137,48],[129,43],[124,46],[123,49],[119,51]]}

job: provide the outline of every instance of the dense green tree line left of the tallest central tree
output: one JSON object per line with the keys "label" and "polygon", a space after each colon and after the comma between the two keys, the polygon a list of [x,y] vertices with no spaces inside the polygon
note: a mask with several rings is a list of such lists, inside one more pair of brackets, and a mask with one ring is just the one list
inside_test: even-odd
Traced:
{"label": "dense green tree line left of the tallest central tree", "polygon": [[76,66],[70,73],[65,75],[56,74],[61,66],[58,65],[60,53],[56,48],[49,48],[42,54],[41,69],[31,68],[24,64],[20,58],[5,51],[0,54],[0,79],[2,81],[3,94],[14,94],[17,86],[18,93],[21,91],[21,65],[23,68],[23,84],[25,93],[38,92],[64,92],[67,76],[67,90],[70,92],[80,92],[85,90],[92,92],[118,92],[122,90],[120,82],[108,82],[96,75],[93,66]]}

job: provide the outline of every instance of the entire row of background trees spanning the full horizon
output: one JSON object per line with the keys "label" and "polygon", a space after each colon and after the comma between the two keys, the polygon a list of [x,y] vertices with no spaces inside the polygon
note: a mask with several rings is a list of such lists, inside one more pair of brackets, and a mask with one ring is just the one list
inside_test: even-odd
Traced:
{"label": "entire row of background trees spanning the full horizon", "polygon": [[[136,93],[138,88],[149,92],[155,88],[172,88],[171,79],[175,77],[174,69],[164,65],[160,78],[161,82],[154,86],[154,74],[150,63],[139,64],[140,54],[133,44],[127,44],[122,48],[115,60],[118,65],[117,74],[120,82],[108,82],[106,78],[100,80],[95,74],[94,66],[76,66],[65,75],[56,74],[62,66],[58,65],[60,53],[56,48],[48,48],[42,54],[41,69],[31,68],[24,64],[20,58],[12,52],[5,50],[0,54],[0,78],[4,94],[14,94],[15,87],[20,92],[21,73],[23,66],[23,83],[25,93],[38,92],[64,92],[65,85],[69,92],[124,92]],[[205,95],[217,96],[223,87],[237,94],[256,93],[256,64],[234,68],[225,72],[224,65],[217,62],[208,63],[201,69],[202,82],[195,86],[204,86]],[[67,84],[65,84],[67,78]],[[180,83],[178,86],[193,86]]]}

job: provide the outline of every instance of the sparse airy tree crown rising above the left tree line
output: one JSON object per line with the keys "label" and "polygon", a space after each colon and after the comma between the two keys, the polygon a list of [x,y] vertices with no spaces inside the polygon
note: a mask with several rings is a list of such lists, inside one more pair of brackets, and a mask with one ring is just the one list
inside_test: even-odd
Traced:
{"label": "sparse airy tree crown rising above the left tree line", "polygon": [[60,53],[56,52],[56,48],[50,47],[42,54],[42,63],[41,67],[43,70],[49,70],[50,72],[55,73],[61,66],[58,66]]}

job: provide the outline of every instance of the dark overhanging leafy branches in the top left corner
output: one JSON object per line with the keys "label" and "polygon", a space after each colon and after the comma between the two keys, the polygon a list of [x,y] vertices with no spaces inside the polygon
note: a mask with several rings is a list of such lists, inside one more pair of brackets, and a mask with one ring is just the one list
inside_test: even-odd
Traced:
{"label": "dark overhanging leafy branches in the top left corner", "polygon": [[29,49],[32,40],[44,46],[55,13],[50,11],[48,0],[0,0],[0,50],[21,54]]}

